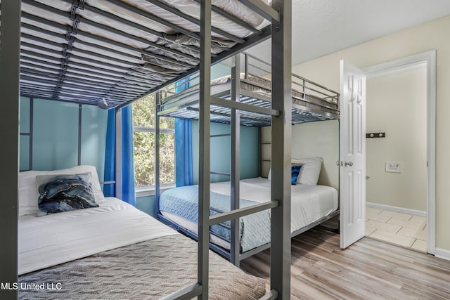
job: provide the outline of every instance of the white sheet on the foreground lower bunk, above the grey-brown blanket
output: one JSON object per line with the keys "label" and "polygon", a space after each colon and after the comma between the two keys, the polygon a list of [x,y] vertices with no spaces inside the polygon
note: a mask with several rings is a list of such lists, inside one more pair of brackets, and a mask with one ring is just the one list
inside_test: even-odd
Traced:
{"label": "white sheet on the foreground lower bunk, above the grey-brown blanket", "polygon": [[113,197],[100,207],[19,217],[18,275],[136,242],[178,234]]}

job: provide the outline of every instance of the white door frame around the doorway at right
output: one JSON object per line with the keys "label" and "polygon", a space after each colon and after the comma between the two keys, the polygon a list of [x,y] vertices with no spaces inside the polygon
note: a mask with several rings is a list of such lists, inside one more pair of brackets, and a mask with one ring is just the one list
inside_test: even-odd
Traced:
{"label": "white door frame around the doorway at right", "polygon": [[427,252],[436,252],[436,50],[380,63],[362,70],[367,79],[426,67],[427,70]]}

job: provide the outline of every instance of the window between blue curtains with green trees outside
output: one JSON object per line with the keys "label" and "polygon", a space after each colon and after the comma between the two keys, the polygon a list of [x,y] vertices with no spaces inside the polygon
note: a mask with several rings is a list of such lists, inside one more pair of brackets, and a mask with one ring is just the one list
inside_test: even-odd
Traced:
{"label": "window between blue curtains with green trees outside", "polygon": [[[133,103],[136,187],[155,185],[155,98]],[[160,117],[160,183],[175,183],[175,119]]]}

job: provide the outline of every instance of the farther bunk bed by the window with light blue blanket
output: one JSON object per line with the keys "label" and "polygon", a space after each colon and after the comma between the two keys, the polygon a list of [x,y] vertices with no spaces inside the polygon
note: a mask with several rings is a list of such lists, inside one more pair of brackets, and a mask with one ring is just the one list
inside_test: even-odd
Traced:
{"label": "farther bunk bed by the window with light blue blanket", "polygon": [[[270,65],[249,53],[239,53],[229,65],[234,62],[235,76],[227,75],[211,81],[211,121],[220,123],[231,122],[231,107],[221,105],[221,99],[231,99],[233,90],[239,91],[238,102],[257,107],[271,107],[271,79],[268,74]],[[237,64],[236,62],[241,62]],[[243,70],[243,72],[240,72]],[[195,82],[194,75],[186,82]],[[292,74],[292,124],[303,122],[318,122],[329,119],[339,119],[339,93],[317,84],[314,81]],[[161,117],[176,117],[181,119],[198,119],[199,86],[190,86],[176,92],[176,89],[163,93],[159,102],[158,115]],[[214,98],[216,99],[214,101]],[[271,117],[259,112],[240,112],[240,124],[245,126],[269,126]],[[303,233],[334,216],[338,216],[338,190],[330,186],[317,185],[322,159],[293,159],[293,165],[302,166],[299,183],[293,183],[291,188],[291,228],[292,236]],[[305,167],[308,171],[304,171]],[[307,174],[308,172],[308,174]],[[212,172],[214,174],[214,172]],[[310,178],[300,180],[300,176]],[[229,175],[229,174],[223,174]],[[248,178],[240,181],[240,206],[268,202],[270,200],[270,174],[266,178]],[[231,182],[211,183],[211,215],[229,211],[231,207]],[[185,186],[166,190],[156,196],[156,214],[165,223],[197,238],[196,221],[198,210],[198,187]],[[245,216],[240,220],[238,237],[231,237],[230,223],[220,223],[210,228],[210,248],[227,259],[231,253],[239,251],[231,261],[239,265],[239,261],[270,247],[270,213],[262,211]],[[238,244],[233,241],[238,240]],[[235,250],[234,248],[238,249]]]}

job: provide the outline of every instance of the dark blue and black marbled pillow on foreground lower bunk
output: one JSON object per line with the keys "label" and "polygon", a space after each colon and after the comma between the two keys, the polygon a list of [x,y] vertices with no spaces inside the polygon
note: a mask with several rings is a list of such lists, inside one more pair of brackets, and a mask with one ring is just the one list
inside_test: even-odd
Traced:
{"label": "dark blue and black marbled pillow on foreground lower bunk", "polygon": [[37,216],[75,209],[98,207],[91,186],[91,174],[36,176],[39,186]]}

